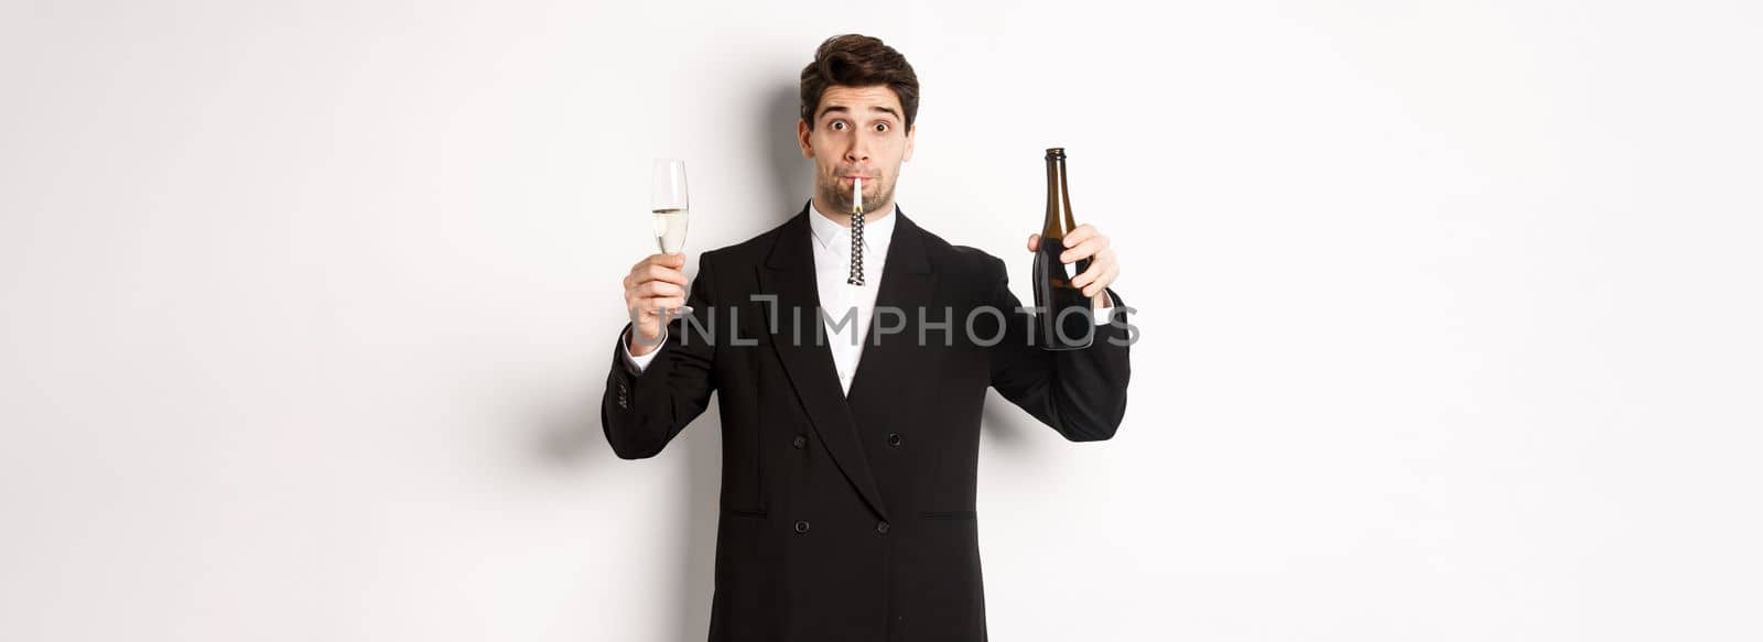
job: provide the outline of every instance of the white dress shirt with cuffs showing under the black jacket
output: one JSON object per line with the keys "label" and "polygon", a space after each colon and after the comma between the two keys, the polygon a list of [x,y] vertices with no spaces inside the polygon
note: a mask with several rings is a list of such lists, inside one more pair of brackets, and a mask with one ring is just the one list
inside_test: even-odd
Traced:
{"label": "white dress shirt with cuffs showing under the black jacket", "polygon": [[[864,219],[864,282],[852,286],[852,229],[841,226],[815,210],[807,217],[815,247],[815,282],[820,287],[822,325],[827,328],[827,347],[832,349],[832,365],[839,374],[839,386],[852,393],[852,379],[857,376],[857,360],[864,355],[864,340],[869,339],[869,321],[874,317],[876,291],[882,287],[882,270],[887,265],[887,249],[894,242],[894,219],[899,206],[885,217]],[[1095,309],[1098,326],[1107,325],[1114,307]],[[846,321],[850,316],[850,321]],[[666,339],[666,328],[661,328]],[[628,339],[628,337],[626,337]],[[652,349],[643,356],[631,356],[629,340],[619,342],[624,360],[636,372],[649,367],[649,362],[661,353]],[[665,346],[665,344],[663,344]]]}

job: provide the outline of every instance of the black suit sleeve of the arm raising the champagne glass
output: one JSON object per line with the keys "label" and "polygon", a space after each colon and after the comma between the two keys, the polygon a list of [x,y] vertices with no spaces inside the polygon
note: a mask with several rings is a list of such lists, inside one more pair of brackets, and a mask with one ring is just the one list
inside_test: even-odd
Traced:
{"label": "black suit sleeve of the arm raising the champagne glass", "polygon": [[[693,316],[698,319],[707,317],[716,305],[714,279],[710,254],[705,254],[698,279],[686,295],[686,305],[695,309]],[[654,358],[642,369],[626,358],[624,337],[633,328],[626,323],[612,347],[612,372],[599,402],[599,425],[619,459],[645,459],[661,453],[710,404],[710,392],[716,390],[710,377],[716,328],[689,319],[668,321],[661,347],[651,353]]]}

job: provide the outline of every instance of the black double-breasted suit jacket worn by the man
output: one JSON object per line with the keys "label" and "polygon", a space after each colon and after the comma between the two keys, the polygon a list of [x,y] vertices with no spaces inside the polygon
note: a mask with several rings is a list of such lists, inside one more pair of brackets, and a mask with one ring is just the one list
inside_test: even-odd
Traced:
{"label": "black double-breasted suit jacket worn by the man", "polygon": [[705,252],[693,321],[672,321],[640,374],[614,346],[606,441],[652,457],[721,392],[710,640],[984,640],[973,487],[986,388],[1070,441],[1112,437],[1130,376],[1125,302],[1109,293],[1114,317],[1086,349],[1030,346],[1003,261],[896,212],[846,397],[830,339],[816,340],[809,215],[804,205]]}

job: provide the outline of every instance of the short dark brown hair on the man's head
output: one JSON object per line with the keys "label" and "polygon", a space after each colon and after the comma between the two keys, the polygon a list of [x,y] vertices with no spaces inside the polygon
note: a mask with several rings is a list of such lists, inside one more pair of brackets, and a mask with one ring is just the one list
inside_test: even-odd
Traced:
{"label": "short dark brown hair on the man's head", "polygon": [[882,39],[844,34],[820,42],[815,62],[802,67],[802,122],[807,129],[815,129],[815,108],[832,85],[887,85],[899,99],[899,108],[906,109],[906,131],[919,120],[919,74],[911,71],[906,56]]}

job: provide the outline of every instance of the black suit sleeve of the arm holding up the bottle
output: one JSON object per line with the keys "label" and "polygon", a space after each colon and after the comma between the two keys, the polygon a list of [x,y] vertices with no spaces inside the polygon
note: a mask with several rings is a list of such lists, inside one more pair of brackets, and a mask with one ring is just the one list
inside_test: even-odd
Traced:
{"label": "black suit sleeve of the arm holding up the bottle", "polygon": [[1095,326],[1084,349],[1049,351],[1031,344],[1033,316],[1021,310],[1010,293],[1003,261],[987,268],[989,302],[1003,312],[1003,340],[989,347],[991,384],[1012,404],[1070,441],[1102,441],[1114,436],[1127,414],[1127,381],[1132,377],[1125,302],[1112,289],[1107,325]]}

